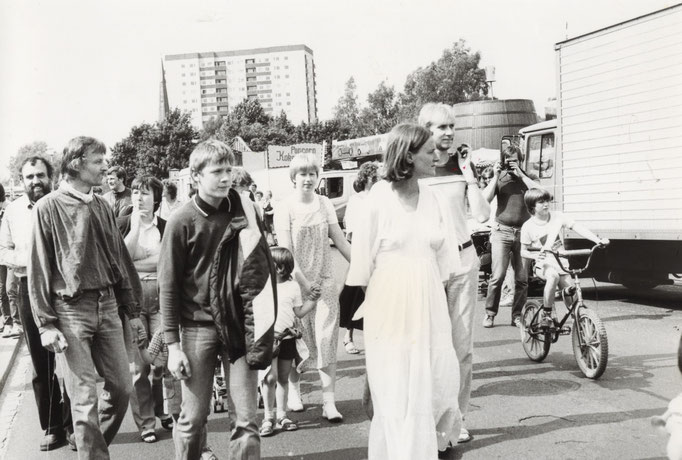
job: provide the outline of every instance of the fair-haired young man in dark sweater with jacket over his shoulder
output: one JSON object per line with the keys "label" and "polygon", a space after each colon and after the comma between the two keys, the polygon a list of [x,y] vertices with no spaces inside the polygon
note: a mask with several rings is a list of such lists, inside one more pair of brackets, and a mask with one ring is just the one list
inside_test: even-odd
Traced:
{"label": "fair-haired young man in dark sweater with jacket over his shoulder", "polygon": [[[236,426],[228,458],[259,459],[257,369],[272,360],[274,277],[254,203],[231,189],[234,155],[219,141],[189,159],[194,197],[168,220],[158,283],[168,369],[182,380],[176,458],[197,459],[218,355],[229,372]],[[180,340],[182,335],[182,340]]]}

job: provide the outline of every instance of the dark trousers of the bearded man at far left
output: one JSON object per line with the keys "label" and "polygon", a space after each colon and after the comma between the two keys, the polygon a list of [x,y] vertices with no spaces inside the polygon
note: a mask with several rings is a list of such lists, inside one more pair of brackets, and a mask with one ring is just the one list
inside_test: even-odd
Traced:
{"label": "dark trousers of the bearded man at far left", "polygon": [[38,406],[40,427],[45,430],[45,434],[73,433],[71,403],[66,391],[62,394],[59,387],[59,380],[55,375],[54,353],[47,351],[40,343],[40,332],[31,313],[26,277],[20,280],[19,314],[24,326],[26,346],[33,362],[33,394]]}

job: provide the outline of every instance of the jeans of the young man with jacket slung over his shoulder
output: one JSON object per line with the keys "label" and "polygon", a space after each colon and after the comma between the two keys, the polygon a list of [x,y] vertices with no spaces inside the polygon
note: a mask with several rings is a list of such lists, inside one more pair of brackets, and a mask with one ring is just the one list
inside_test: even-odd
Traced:
{"label": "jeans of the young man with jacket slung over his shoulder", "polygon": [[[182,327],[181,342],[192,376],[182,380],[180,417],[173,430],[175,458],[197,460],[201,457],[201,433],[210,410],[213,376],[222,345],[213,325]],[[256,423],[258,371],[249,369],[245,357],[234,364],[227,364],[227,353],[222,358],[226,363],[225,380],[229,381],[236,417],[227,458],[259,460],[260,437]]]}

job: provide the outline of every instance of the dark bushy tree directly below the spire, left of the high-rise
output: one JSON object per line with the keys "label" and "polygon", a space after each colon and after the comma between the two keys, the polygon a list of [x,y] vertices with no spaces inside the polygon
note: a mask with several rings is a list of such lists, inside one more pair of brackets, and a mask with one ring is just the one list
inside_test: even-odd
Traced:
{"label": "dark bushy tree directly below the spire, left of the high-rise", "polygon": [[170,169],[187,167],[198,133],[188,112],[171,111],[165,120],[142,123],[112,149],[111,163],[123,167],[128,177],[149,174],[168,177]]}

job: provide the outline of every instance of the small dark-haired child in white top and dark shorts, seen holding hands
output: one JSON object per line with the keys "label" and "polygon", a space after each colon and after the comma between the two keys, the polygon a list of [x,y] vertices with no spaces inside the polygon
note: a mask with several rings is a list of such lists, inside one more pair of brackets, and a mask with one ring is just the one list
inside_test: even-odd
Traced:
{"label": "small dark-haired child in white top and dark shorts, seen holding hands", "polygon": [[[271,249],[277,271],[277,319],[275,320],[275,350],[269,372],[261,386],[265,416],[260,428],[261,436],[270,436],[275,431],[275,401],[277,402],[277,427],[282,431],[295,431],[298,425],[287,417],[286,404],[289,392],[289,373],[299,352],[305,346],[301,333],[295,329],[296,318],[302,318],[315,307],[315,299],[301,297],[301,289],[291,273],[294,270],[294,256],[287,248]],[[276,386],[276,389],[275,389]]]}

